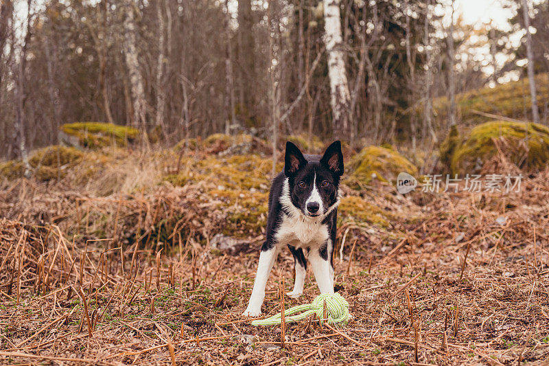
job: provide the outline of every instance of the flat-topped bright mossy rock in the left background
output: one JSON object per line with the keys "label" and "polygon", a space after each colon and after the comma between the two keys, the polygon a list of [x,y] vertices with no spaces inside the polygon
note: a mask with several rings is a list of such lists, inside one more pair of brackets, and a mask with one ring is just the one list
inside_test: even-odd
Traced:
{"label": "flat-topped bright mossy rock in the left background", "polygon": [[75,122],[64,124],[61,131],[69,138],[64,138],[69,145],[75,145],[74,140],[78,141],[78,146],[84,148],[104,148],[106,146],[127,146],[128,142],[134,142],[139,137],[139,130],[130,126],[120,126],[117,124],[107,124],[103,122]]}

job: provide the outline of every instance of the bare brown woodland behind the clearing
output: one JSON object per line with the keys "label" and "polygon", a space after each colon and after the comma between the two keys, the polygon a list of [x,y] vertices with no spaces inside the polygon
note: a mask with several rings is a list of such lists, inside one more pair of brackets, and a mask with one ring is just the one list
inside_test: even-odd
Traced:
{"label": "bare brown woodland behind the clearing", "polygon": [[[71,122],[135,126],[167,144],[212,133],[440,139],[461,116],[455,102],[433,109],[436,98],[517,80],[526,65],[549,71],[548,1],[528,5],[529,35],[524,3],[502,2],[515,14],[506,30],[463,23],[452,1],[342,0],[341,42],[327,52],[318,0],[3,0],[0,155],[58,144]],[[331,52],[346,74],[341,113]],[[530,106],[508,117],[547,123],[539,104],[541,117]]]}

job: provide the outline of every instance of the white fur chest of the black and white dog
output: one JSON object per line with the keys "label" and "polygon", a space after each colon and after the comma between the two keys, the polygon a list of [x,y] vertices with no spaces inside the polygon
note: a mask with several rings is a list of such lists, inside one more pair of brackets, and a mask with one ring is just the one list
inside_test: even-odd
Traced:
{"label": "white fur chest of the black and white dog", "polygon": [[320,220],[290,218],[283,214],[275,238],[281,244],[297,248],[318,247],[328,240],[328,226]]}

